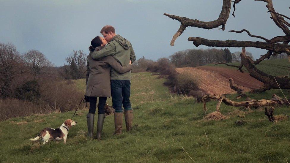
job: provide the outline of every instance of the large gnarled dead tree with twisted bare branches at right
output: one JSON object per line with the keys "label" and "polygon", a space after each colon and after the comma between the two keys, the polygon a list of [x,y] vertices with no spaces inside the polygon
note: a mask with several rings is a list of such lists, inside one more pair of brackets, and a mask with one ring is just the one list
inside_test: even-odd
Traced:
{"label": "large gnarled dead tree with twisted bare branches at right", "polygon": [[[181,23],[180,28],[178,29],[176,34],[174,34],[171,40],[171,45],[172,46],[174,45],[176,38],[180,36],[182,32],[185,30],[185,28],[188,26],[204,28],[204,29],[213,29],[213,28],[222,26],[220,29],[225,30],[225,25],[226,25],[226,22],[228,20],[230,10],[231,10],[231,2],[234,2],[233,7],[235,11],[236,9],[235,5],[239,3],[240,1],[242,0],[235,0],[235,1],[223,0],[222,11],[218,19],[210,21],[210,22],[204,22],[197,19],[189,19],[185,17],[180,17],[180,16],[164,13],[164,15],[168,16],[169,18],[178,20]],[[290,20],[290,18],[276,12],[273,7],[272,0],[256,0],[256,1],[263,1],[267,3],[266,7],[268,9],[268,12],[271,15],[270,18],[284,32],[285,34],[284,36],[276,36],[276,37],[273,37],[272,39],[266,39],[261,36],[252,35],[248,30],[242,29],[241,31],[231,30],[230,32],[235,32],[235,33],[247,32],[250,37],[263,39],[264,41],[263,42],[261,41],[257,41],[257,42],[236,41],[236,40],[220,41],[220,40],[204,39],[201,37],[189,37],[187,40],[193,41],[193,45],[195,45],[196,47],[198,47],[199,45],[206,45],[206,46],[212,46],[212,47],[243,48],[243,53],[240,54],[241,61],[242,61],[240,66],[234,66],[234,65],[230,65],[230,66],[237,67],[241,72],[243,72],[242,67],[245,66],[245,68],[248,70],[248,72],[250,73],[252,77],[264,83],[264,85],[261,86],[261,88],[254,90],[252,92],[266,91],[271,88],[279,88],[278,84],[280,85],[282,89],[290,89],[290,78],[268,75],[255,67],[255,64],[259,64],[264,59],[266,58],[269,59],[270,56],[275,56],[280,53],[286,53],[290,61],[290,45],[288,45],[290,42],[290,29],[289,29],[290,23],[286,21],[286,19]],[[234,16],[234,12],[232,15]],[[256,61],[253,61],[253,59],[246,56],[245,47],[265,49],[265,50],[268,50],[268,52],[264,55],[261,55],[261,57],[257,59]],[[276,81],[278,84],[276,83]]]}

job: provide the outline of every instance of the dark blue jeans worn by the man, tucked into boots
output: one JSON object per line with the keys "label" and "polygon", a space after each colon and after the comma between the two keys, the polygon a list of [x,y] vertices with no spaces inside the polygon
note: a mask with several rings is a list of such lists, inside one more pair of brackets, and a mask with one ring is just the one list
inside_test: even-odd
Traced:
{"label": "dark blue jeans worn by the man, tucked into boots", "polygon": [[122,104],[125,110],[131,110],[130,80],[111,80],[111,96],[116,113],[122,113]]}

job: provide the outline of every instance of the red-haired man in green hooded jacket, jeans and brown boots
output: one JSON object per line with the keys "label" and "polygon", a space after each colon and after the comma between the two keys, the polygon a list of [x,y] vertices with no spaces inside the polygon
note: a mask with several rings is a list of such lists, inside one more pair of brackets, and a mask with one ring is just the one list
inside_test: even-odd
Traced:
{"label": "red-haired man in green hooded jacket, jeans and brown boots", "polygon": [[[94,59],[100,59],[102,57],[112,55],[116,58],[122,66],[129,64],[130,60],[133,63],[136,60],[136,56],[131,43],[124,39],[119,34],[115,34],[115,29],[112,26],[104,26],[101,30],[101,34],[106,39],[108,44],[99,51],[91,52],[91,56]],[[127,131],[132,129],[133,110],[130,103],[130,83],[131,71],[120,74],[116,70],[111,69],[111,96],[113,102],[113,108],[115,109],[115,132],[114,134],[122,133],[123,125],[123,109],[126,121]]]}

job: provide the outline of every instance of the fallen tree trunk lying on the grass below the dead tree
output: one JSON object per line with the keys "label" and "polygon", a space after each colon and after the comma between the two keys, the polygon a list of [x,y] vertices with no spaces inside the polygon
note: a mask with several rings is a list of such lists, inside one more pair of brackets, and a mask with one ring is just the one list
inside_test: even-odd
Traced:
{"label": "fallen tree trunk lying on the grass below the dead tree", "polygon": [[[220,104],[223,102],[224,104],[228,106],[234,106],[234,107],[260,107],[260,106],[273,106],[273,105],[289,105],[287,99],[282,99],[276,94],[272,95],[272,99],[260,99],[260,100],[255,100],[255,99],[250,99],[249,101],[241,101],[241,102],[236,102],[232,101],[224,96],[221,95],[210,95],[210,94],[205,94],[202,97],[202,101],[204,104],[204,112],[207,111],[207,106],[206,106],[206,100],[207,99],[213,99],[216,101],[219,101],[217,106],[216,106],[216,111],[220,111]],[[290,99],[289,99],[290,100]]]}

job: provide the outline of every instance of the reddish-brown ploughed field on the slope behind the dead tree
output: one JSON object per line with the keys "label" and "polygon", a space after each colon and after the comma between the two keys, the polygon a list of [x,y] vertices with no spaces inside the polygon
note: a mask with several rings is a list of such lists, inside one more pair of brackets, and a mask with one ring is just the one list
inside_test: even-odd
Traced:
{"label": "reddish-brown ploughed field on the slope behind the dead tree", "polygon": [[239,72],[223,67],[200,66],[176,68],[178,73],[190,73],[198,79],[198,86],[209,94],[236,93],[230,88],[228,79],[231,77],[234,83],[245,91],[259,88],[263,83],[251,77],[248,72]]}

